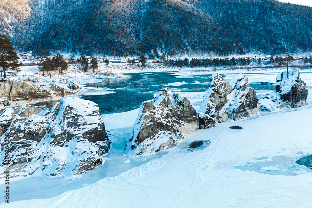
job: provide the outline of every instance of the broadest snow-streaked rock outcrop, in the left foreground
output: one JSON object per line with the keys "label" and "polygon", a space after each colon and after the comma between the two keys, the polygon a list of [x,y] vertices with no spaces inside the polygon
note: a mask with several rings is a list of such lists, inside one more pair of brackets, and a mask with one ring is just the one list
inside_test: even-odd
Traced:
{"label": "broadest snow-streaked rock outcrop, in the left foreground", "polygon": [[1,167],[9,166],[12,176],[71,177],[103,164],[110,148],[97,104],[74,97],[51,109],[29,104],[2,109],[0,127],[1,152],[9,140],[9,163],[1,154]]}

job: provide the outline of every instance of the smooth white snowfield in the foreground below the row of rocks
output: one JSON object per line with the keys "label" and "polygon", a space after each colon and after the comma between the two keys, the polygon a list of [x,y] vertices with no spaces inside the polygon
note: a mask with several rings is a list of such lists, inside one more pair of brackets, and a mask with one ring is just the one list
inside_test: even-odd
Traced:
{"label": "smooth white snowfield in the foreground below the row of rocks", "polygon": [[[116,176],[1,207],[309,207],[312,170],[295,162],[312,154],[311,117],[307,105],[219,123]],[[229,129],[232,125],[243,129]],[[188,149],[197,140],[210,144]],[[124,145],[112,142],[120,145],[115,149]]]}

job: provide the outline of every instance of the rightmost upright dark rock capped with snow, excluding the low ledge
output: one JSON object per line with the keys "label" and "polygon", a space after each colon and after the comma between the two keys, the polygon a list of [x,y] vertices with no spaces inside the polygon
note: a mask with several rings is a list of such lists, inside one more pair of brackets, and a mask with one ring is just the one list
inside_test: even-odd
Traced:
{"label": "rightmost upright dark rock capped with snow, excluding the low ledge", "polygon": [[275,88],[276,92],[280,93],[281,99],[292,108],[307,104],[308,89],[301,80],[298,70],[289,70],[288,77],[286,71],[281,71],[276,76]]}

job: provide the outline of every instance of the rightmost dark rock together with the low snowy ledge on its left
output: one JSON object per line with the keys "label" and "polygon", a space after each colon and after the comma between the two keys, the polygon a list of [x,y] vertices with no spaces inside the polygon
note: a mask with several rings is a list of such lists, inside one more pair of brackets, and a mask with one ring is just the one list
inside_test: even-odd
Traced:
{"label": "rightmost dark rock together with the low snowy ledge on its left", "polygon": [[262,111],[274,111],[282,108],[297,108],[307,104],[308,89],[301,80],[299,71],[281,71],[276,76],[276,92],[263,95],[259,99],[259,107]]}

